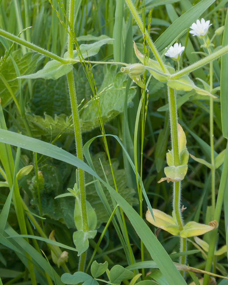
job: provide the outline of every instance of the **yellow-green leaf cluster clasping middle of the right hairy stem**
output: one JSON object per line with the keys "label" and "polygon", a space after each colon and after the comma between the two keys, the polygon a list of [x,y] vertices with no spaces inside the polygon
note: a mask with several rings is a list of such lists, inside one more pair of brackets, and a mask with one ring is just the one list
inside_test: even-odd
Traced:
{"label": "yellow-green leaf cluster clasping middle of the right hairy stem", "polygon": [[175,181],[181,181],[184,179],[187,171],[188,171],[188,158],[189,158],[189,152],[186,148],[186,135],[181,127],[180,124],[178,124],[178,146],[179,146],[179,158],[180,158],[180,165],[174,166],[174,154],[173,150],[169,150],[166,154],[166,160],[168,166],[164,168],[164,172],[166,177],[161,178],[158,183],[162,181],[167,182],[175,182]]}

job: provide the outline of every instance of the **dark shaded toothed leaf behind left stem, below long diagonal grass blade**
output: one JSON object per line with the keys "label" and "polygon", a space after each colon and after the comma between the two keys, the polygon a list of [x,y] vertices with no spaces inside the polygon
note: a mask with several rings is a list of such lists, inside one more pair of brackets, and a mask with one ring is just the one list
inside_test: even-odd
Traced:
{"label": "dark shaded toothed leaf behind left stem, below long diagonal grass blade", "polygon": [[[112,179],[112,173],[109,161],[107,160],[106,154],[104,152],[100,152],[92,157],[93,165],[97,171],[97,174],[103,180],[105,180],[99,159],[101,160],[102,165],[105,169],[105,173],[107,175],[108,180],[110,181],[110,185],[112,187],[115,187]],[[119,193],[130,205],[137,204],[138,200],[134,198],[135,190],[132,188],[127,188],[125,170],[118,169],[119,161],[117,159],[111,159],[111,162],[113,165],[113,171],[116,178],[116,183]],[[75,221],[74,221],[75,199],[71,196],[55,199],[56,196],[67,192],[67,190],[64,189],[63,185],[64,184],[66,185],[69,179],[72,181],[72,184],[74,184],[74,182],[76,181],[75,168],[73,168],[69,164],[66,164],[64,162],[59,162],[56,160],[54,162],[45,160],[44,165],[39,165],[39,167],[40,170],[42,171],[42,172],[40,171],[41,173],[39,176],[39,186],[40,186],[40,194],[41,194],[40,198],[41,198],[41,207],[43,215],[47,215],[48,217],[54,220],[58,220],[66,224],[68,228],[75,229]],[[85,173],[85,179],[86,183],[93,181],[93,177],[87,173]],[[39,201],[37,196],[35,175],[33,176],[32,180],[29,183],[30,183],[29,189],[34,197],[31,200],[31,204],[35,204],[38,208]],[[105,196],[107,197],[109,205],[112,205],[112,200],[109,191],[107,189],[104,189],[104,193]],[[97,195],[94,183],[86,187],[86,199],[91,205],[91,207],[95,210],[95,213],[97,215],[97,227],[99,227],[101,223],[107,222],[109,219],[109,215],[103,203],[101,202],[99,196]]]}

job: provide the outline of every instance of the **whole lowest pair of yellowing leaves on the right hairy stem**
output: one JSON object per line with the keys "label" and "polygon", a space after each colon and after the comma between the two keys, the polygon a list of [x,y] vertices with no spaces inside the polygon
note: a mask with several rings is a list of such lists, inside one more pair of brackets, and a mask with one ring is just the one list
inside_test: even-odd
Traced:
{"label": "whole lowest pair of yellowing leaves on the right hairy stem", "polygon": [[154,219],[148,209],[146,212],[146,219],[155,227],[161,228],[172,235],[180,235],[181,237],[194,237],[198,235],[203,235],[213,229],[218,227],[217,221],[211,221],[209,225],[204,225],[196,223],[194,221],[188,222],[182,231],[178,229],[178,225],[174,217],[167,215],[166,213],[159,211],[157,209],[152,209],[154,214]]}

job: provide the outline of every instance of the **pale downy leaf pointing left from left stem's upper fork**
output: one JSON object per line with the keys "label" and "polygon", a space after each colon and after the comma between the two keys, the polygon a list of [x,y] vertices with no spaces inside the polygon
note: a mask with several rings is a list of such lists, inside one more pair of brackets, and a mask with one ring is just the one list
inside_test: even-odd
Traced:
{"label": "pale downy leaf pointing left from left stem's upper fork", "polygon": [[68,74],[73,69],[70,64],[62,64],[57,60],[50,60],[45,64],[44,68],[38,70],[36,73],[24,75],[19,78],[44,78],[44,79],[58,79],[66,74]]}

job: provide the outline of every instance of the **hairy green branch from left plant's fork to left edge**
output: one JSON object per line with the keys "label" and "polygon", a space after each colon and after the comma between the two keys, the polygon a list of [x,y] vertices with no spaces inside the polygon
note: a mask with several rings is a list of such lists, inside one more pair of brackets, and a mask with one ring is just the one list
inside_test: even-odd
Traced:
{"label": "hairy green branch from left plant's fork to left edge", "polygon": [[2,29],[0,29],[0,36],[3,36],[4,38],[7,38],[8,40],[11,40],[12,42],[16,42],[17,44],[20,44],[22,46],[26,46],[27,48],[30,48],[31,50],[34,50],[35,52],[38,52],[40,54],[43,54],[44,56],[50,57],[54,60],[57,60],[58,62],[61,62],[62,64],[68,63],[68,60],[61,58],[57,56],[56,54],[53,54],[44,48],[40,48],[39,46],[36,46],[35,44],[32,44],[31,42],[27,42],[26,40],[23,40],[11,33],[8,33]]}

